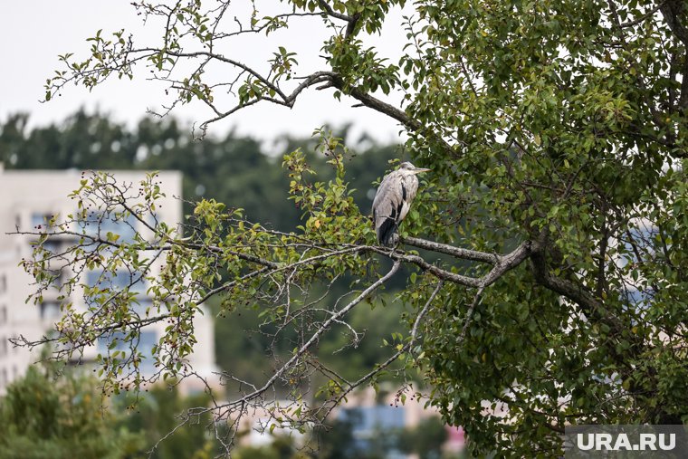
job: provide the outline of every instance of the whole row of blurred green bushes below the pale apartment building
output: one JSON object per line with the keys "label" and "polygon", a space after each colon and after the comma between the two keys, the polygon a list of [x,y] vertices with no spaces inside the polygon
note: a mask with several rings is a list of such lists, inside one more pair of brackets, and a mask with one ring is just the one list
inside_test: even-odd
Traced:
{"label": "whole row of blurred green bushes below the pale apartment building", "polygon": [[[160,438],[177,426],[179,412],[203,405],[204,394],[180,397],[176,388],[152,387],[122,395],[103,406],[99,381],[84,368],[42,363],[28,368],[0,399],[0,457],[2,458],[124,458],[193,457],[216,454],[207,436],[208,419],[177,428],[165,442]],[[138,397],[136,410],[126,400]]]}

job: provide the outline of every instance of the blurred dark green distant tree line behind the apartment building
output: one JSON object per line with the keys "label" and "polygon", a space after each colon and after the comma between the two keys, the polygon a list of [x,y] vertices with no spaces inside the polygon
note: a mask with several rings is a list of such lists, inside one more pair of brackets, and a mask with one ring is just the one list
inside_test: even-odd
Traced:
{"label": "blurred dark green distant tree line behind the apartment building", "polygon": [[[0,161],[17,169],[138,169],[179,170],[184,174],[184,199],[215,198],[227,206],[244,208],[248,218],[280,228],[293,228],[301,212],[287,200],[289,180],[282,169],[282,155],[304,148],[319,177],[332,177],[324,156],[316,155],[313,139],[283,137],[265,151],[258,139],[207,136],[193,140],[189,126],[174,118],[143,118],[129,129],[106,114],[79,110],[60,124],[28,128],[30,116],[11,115],[0,123]],[[346,138],[349,128],[335,131]],[[349,139],[350,142],[351,139]],[[380,146],[362,136],[360,148],[348,165],[357,204],[368,208],[368,191],[388,167],[387,161],[402,155],[399,146]],[[191,210],[189,203],[185,212]]]}

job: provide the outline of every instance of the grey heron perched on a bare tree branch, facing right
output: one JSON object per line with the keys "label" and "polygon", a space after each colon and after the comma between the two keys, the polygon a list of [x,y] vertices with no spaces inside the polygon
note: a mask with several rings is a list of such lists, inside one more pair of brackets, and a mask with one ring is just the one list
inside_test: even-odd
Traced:
{"label": "grey heron perched on a bare tree branch, facing right", "polygon": [[373,223],[379,244],[394,247],[399,243],[398,226],[418,191],[416,174],[429,170],[406,161],[382,179],[373,199]]}

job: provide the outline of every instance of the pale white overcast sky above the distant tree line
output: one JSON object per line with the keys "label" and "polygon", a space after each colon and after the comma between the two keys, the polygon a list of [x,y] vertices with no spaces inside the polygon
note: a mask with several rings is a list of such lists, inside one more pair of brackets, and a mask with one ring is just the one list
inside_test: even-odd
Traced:
{"label": "pale white overcast sky above the distant tree line", "polygon": [[[248,0],[242,0],[245,4]],[[242,2],[235,1],[240,5]],[[266,11],[276,0],[256,0],[259,10]],[[50,102],[41,103],[45,80],[60,69],[58,54],[75,53],[85,56],[89,49],[86,38],[99,29],[103,34],[125,28],[140,44],[159,43],[161,31],[157,24],[142,24],[135,9],[126,0],[2,0],[0,14],[0,121],[17,111],[30,114],[30,127],[60,123],[81,107],[109,113],[114,120],[134,126],[147,110],[159,110],[167,100],[165,87],[148,81],[146,71],[139,67],[133,81],[108,81],[89,92],[83,87],[69,86]],[[234,5],[233,4],[233,5]],[[261,11],[263,13],[263,11]],[[242,11],[237,11],[242,14]],[[391,62],[401,53],[404,31],[399,25],[400,13],[393,15],[380,36],[370,37]],[[321,38],[320,19],[308,18],[308,23],[296,24],[288,33],[275,36],[272,41],[250,43],[229,50],[247,62],[264,62],[278,44],[293,49],[305,70],[327,70],[318,57]],[[215,80],[223,78],[223,69],[209,74]],[[126,79],[125,79],[126,80]],[[400,130],[394,120],[366,108],[353,108],[355,100],[334,100],[332,90],[310,91],[302,94],[292,110],[272,104],[258,104],[241,110],[229,120],[214,124],[211,135],[222,136],[228,129],[240,135],[270,141],[284,133],[293,136],[311,135],[323,124],[339,127],[352,123],[352,138],[366,132],[381,142],[397,142]],[[398,96],[396,97],[398,100]],[[395,96],[387,98],[394,102]],[[206,119],[208,112],[201,104],[183,106],[173,111],[179,120],[191,126]]]}

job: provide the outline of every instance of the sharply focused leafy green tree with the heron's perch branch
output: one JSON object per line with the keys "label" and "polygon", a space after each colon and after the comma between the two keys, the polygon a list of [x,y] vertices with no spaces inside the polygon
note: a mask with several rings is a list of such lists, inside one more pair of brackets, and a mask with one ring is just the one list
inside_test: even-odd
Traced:
{"label": "sharply focused leafy green tree with the heron's perch branch", "polygon": [[[265,407],[278,381],[294,391],[291,405],[272,406],[275,422],[318,423],[400,358],[425,370],[430,403],[465,428],[474,454],[560,455],[568,423],[688,420],[684,2],[419,0],[406,5],[399,62],[368,40],[403,0],[275,2],[282,13],[253,6],[241,26],[243,16],[225,1],[135,5],[162,24],[162,42],[99,32],[86,56],[62,56],[46,100],[67,83],[92,88],[145,68],[169,82],[177,103],[214,110],[204,133],[244,107],[291,107],[304,91],[330,89],[397,120],[413,158],[433,167],[402,228],[404,245],[393,250],[375,243],[367,209],[349,196],[347,150],[326,134],[320,150],[336,171],[329,181],[311,180],[298,150],[284,159],[291,197],[305,215],[294,232],[202,201],[187,238],[167,225],[136,244],[84,236],[116,247],[97,257],[108,270],[123,264],[145,275],[139,253],[166,253],[163,274],[148,279],[160,317],[172,320],[158,347],[162,374],[186,370],[190,318],[216,295],[227,313],[254,305],[297,337],[271,377],[213,408],[230,423],[246,406]],[[295,29],[288,25],[297,21],[330,32],[316,72],[302,70],[289,50]],[[263,66],[225,52],[276,31],[283,46],[266,50]],[[213,66],[225,71],[205,72]],[[396,94],[398,106],[383,100]],[[123,212],[148,222],[156,188],[152,179],[141,187],[142,204]],[[126,203],[103,175],[86,180],[77,196],[111,211]],[[86,255],[74,247],[64,263],[91,263]],[[26,263],[39,280],[46,256],[39,247]],[[401,265],[411,271],[402,298],[414,314],[389,359],[354,380],[325,368],[311,349]],[[352,291],[340,301],[310,295],[314,285],[344,277]],[[111,307],[92,311],[89,322],[67,308],[59,340],[70,351],[111,328],[135,338],[140,320],[127,315],[126,290],[115,301],[110,292],[86,293],[99,308]],[[99,314],[110,309],[120,311],[119,321]],[[117,387],[121,362],[101,363],[106,387]],[[330,381],[312,405],[299,388],[315,372]]]}

